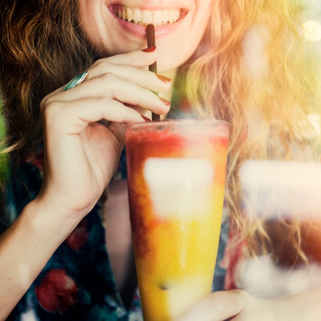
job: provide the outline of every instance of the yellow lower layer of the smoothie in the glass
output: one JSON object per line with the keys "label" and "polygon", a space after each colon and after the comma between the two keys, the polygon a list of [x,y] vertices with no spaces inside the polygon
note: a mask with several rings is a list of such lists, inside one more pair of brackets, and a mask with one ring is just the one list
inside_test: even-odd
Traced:
{"label": "yellow lower layer of the smoothie in the glass", "polygon": [[[150,228],[145,242],[149,250],[136,257],[145,321],[172,320],[211,292],[224,191],[216,186],[207,192],[206,206],[198,203],[197,209],[194,199],[190,209],[194,213],[147,219]],[[189,194],[185,197],[189,202],[193,198]]]}

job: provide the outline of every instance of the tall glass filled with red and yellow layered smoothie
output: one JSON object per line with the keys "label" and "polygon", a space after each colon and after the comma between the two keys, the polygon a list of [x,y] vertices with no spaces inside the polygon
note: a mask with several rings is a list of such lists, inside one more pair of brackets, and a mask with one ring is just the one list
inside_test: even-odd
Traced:
{"label": "tall glass filled with red and yellow layered smoothie", "polygon": [[229,126],[217,120],[129,125],[130,219],[145,321],[182,315],[211,292]]}

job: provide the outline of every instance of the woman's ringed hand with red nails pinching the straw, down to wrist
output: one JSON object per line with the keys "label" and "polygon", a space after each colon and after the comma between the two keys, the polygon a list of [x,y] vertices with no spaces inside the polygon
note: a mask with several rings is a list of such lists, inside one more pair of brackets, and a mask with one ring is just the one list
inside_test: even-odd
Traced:
{"label": "woman's ringed hand with red nails pinching the straw, down to wrist", "polygon": [[77,219],[92,209],[117,166],[124,124],[144,121],[124,103],[157,114],[169,110],[153,92],[168,90],[170,83],[142,69],[156,57],[157,51],[139,50],[100,59],[81,85],[43,99],[45,169],[38,203]]}

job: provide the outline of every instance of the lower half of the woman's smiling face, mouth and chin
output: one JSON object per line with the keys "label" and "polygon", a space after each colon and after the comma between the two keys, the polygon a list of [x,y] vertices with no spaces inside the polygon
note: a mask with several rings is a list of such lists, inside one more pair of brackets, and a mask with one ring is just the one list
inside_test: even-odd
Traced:
{"label": "lower half of the woman's smiling face, mouth and chin", "polygon": [[211,0],[81,0],[79,4],[81,27],[101,56],[143,49],[144,24],[155,23],[159,72],[177,68],[193,54],[213,10]]}

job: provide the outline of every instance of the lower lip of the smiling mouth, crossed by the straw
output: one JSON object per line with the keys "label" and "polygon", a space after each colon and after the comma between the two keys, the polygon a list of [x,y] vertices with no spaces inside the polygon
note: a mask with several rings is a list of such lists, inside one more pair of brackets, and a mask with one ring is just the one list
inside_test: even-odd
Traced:
{"label": "lower lip of the smiling mouth, crossed by the straw", "polygon": [[[127,20],[123,20],[122,18],[119,18],[115,14],[115,12],[113,10],[113,6],[109,7],[109,11],[112,13],[114,18],[117,20],[117,23],[123,29],[125,29],[126,31],[128,31],[138,37],[141,37],[141,38],[146,37],[146,27],[135,25],[133,23],[128,22]],[[182,23],[185,16],[181,17],[179,20],[177,20],[176,22],[174,22],[172,24],[155,27],[155,36],[158,37],[158,36],[165,36],[167,34],[170,34]]]}

